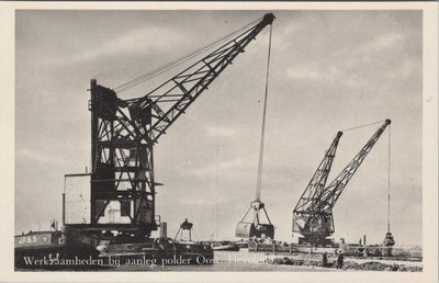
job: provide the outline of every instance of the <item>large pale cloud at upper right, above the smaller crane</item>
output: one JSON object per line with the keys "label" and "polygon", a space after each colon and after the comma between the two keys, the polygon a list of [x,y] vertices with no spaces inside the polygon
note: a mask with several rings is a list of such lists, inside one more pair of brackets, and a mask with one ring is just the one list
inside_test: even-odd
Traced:
{"label": "large pale cloud at upper right, above the smaller crane", "polygon": [[286,67],[285,76],[301,81],[342,83],[360,89],[376,78],[408,78],[418,69],[412,58],[398,59],[407,48],[407,37],[399,33],[380,34],[341,49],[327,49],[313,61],[294,63]]}

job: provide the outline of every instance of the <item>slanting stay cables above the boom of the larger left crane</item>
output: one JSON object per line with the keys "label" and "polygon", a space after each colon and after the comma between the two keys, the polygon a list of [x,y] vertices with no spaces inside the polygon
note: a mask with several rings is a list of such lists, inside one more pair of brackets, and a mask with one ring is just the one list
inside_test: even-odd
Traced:
{"label": "slanting stay cables above the boom of the larger left crane", "polygon": [[221,43],[224,43],[224,42],[227,41],[228,38],[230,38],[230,37],[237,35],[237,34],[239,34],[239,33],[243,33],[244,30],[247,31],[247,29],[248,29],[249,26],[255,25],[255,23],[258,22],[258,21],[260,21],[260,20],[261,20],[261,19],[258,19],[258,20],[256,20],[256,21],[254,21],[254,22],[251,22],[251,23],[249,23],[249,24],[247,24],[247,25],[240,27],[239,30],[237,30],[237,31],[235,31],[235,32],[232,32],[232,33],[229,33],[229,34],[227,34],[227,35],[225,35],[225,36],[223,36],[223,37],[221,37],[221,38],[218,38],[218,39],[216,39],[216,41],[214,41],[214,42],[207,44],[207,45],[204,45],[204,46],[202,46],[202,47],[195,49],[194,52],[191,52],[191,53],[189,53],[189,54],[182,55],[182,56],[178,57],[177,59],[175,59],[175,60],[172,60],[172,61],[170,61],[170,63],[165,64],[165,65],[161,66],[161,67],[158,67],[158,68],[156,68],[156,69],[153,69],[153,70],[150,70],[150,71],[148,71],[148,72],[146,72],[146,73],[143,73],[143,75],[140,75],[140,76],[134,78],[133,80],[130,80],[130,81],[127,81],[127,82],[125,82],[125,83],[122,83],[121,86],[115,87],[113,90],[114,90],[114,91],[117,91],[117,92],[123,92],[123,91],[125,91],[125,90],[128,90],[128,89],[131,89],[131,88],[133,88],[133,87],[135,87],[135,86],[142,83],[142,82],[145,82],[146,80],[149,80],[149,79],[151,79],[151,78],[155,78],[155,77],[159,76],[160,73],[164,73],[165,71],[167,71],[167,70],[169,70],[169,69],[171,69],[171,68],[175,68],[175,67],[177,67],[177,66],[180,66],[181,64],[183,64],[183,63],[185,63],[185,61],[192,59],[193,57],[195,57],[195,56],[198,56],[198,55],[200,55],[200,54],[202,54],[202,53],[204,53],[204,52],[206,52],[206,50],[209,50],[209,49],[212,49],[213,47],[219,45]]}

